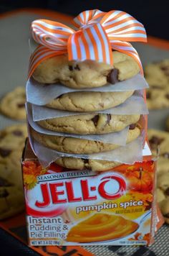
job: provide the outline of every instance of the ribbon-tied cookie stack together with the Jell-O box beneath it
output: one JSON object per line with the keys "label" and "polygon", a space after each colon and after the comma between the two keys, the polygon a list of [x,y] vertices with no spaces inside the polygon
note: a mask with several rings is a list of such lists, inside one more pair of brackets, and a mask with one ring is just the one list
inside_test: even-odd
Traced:
{"label": "ribbon-tied cookie stack together with the Jell-O box beneath it", "polygon": [[155,161],[148,88],[137,51],[143,24],[90,10],[73,26],[32,22],[22,170],[29,244],[151,244]]}

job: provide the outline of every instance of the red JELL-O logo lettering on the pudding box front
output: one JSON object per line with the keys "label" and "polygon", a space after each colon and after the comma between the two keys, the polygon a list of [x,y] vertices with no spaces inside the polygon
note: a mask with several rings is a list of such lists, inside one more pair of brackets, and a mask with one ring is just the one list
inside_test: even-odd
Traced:
{"label": "red JELL-O logo lettering on the pudding box front", "polygon": [[35,201],[37,207],[51,204],[67,204],[80,201],[96,201],[98,197],[106,200],[120,198],[127,188],[125,179],[116,173],[98,178],[74,178],[41,183],[42,200]]}

